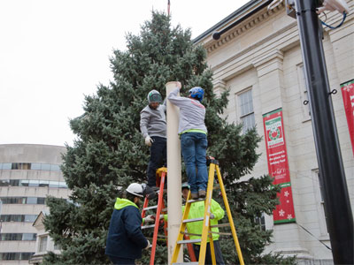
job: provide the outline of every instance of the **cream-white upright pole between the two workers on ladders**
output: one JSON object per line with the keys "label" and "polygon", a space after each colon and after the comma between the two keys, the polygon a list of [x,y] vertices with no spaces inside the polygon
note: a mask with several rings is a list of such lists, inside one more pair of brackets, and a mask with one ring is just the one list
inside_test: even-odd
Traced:
{"label": "cream-white upright pole between the two workers on ladders", "polygon": [[[166,95],[176,82],[165,84]],[[168,264],[171,264],[173,247],[181,225],[181,144],[178,137],[180,110],[167,100],[167,213],[168,213]],[[182,251],[177,259],[183,262]]]}

